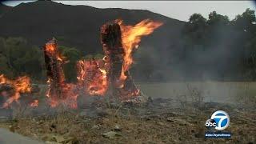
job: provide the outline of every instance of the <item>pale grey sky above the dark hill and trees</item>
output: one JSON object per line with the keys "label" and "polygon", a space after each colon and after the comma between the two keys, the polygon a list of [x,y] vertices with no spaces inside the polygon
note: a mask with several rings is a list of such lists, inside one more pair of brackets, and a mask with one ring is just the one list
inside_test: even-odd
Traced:
{"label": "pale grey sky above the dark hill and trees", "polygon": [[[31,1],[6,1],[8,6],[17,6],[21,2]],[[188,21],[191,14],[199,13],[205,18],[212,11],[227,15],[234,19],[242,14],[246,8],[256,10],[255,1],[55,1],[67,5],[86,5],[97,8],[124,8],[137,10],[150,10],[170,18]]]}

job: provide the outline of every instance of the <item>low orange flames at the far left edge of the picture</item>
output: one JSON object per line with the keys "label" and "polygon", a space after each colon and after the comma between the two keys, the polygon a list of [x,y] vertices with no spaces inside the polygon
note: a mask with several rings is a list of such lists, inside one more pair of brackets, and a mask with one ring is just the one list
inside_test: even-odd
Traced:
{"label": "low orange flames at the far left edge of the picture", "polygon": [[31,83],[30,78],[27,76],[18,77],[15,80],[10,80],[5,78],[3,74],[0,75],[0,85],[10,85],[14,88],[14,94],[11,94],[10,97],[3,104],[3,108],[10,106],[12,102],[18,102],[18,99],[21,97],[22,93],[30,93],[31,92]]}

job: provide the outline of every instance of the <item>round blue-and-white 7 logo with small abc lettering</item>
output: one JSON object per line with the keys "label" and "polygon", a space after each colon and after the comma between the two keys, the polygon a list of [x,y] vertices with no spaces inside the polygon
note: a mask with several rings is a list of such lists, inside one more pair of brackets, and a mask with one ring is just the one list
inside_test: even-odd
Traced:
{"label": "round blue-and-white 7 logo with small abc lettering", "polygon": [[212,130],[224,130],[230,124],[229,115],[222,110],[218,110],[211,115],[211,118],[206,121],[206,128]]}

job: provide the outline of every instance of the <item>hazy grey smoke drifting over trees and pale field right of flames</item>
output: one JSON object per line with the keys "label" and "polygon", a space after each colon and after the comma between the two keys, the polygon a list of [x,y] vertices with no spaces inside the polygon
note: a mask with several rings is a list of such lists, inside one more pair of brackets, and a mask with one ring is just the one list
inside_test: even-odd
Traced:
{"label": "hazy grey smoke drifting over trees and pale field right of flames", "polygon": [[147,38],[153,46],[142,40],[131,69],[140,89],[152,98],[190,98],[189,85],[206,102],[238,102],[238,95],[246,94],[244,82],[237,82],[243,78],[240,70],[245,33],[215,26],[205,37],[210,38],[197,46],[189,46],[181,36],[161,42]]}

